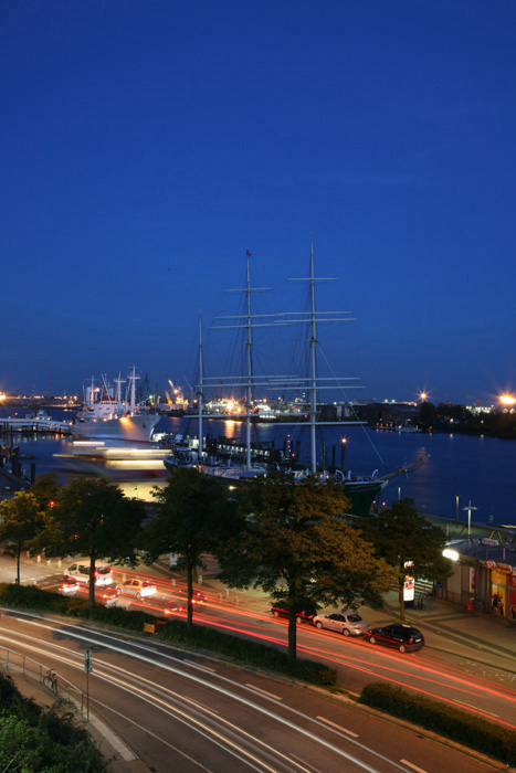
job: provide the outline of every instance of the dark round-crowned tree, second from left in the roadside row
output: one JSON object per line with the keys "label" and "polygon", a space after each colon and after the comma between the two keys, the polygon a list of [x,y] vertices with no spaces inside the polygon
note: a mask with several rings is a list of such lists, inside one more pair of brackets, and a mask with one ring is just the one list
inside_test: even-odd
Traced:
{"label": "dark round-crowned tree, second from left in the roadside row", "polygon": [[144,502],[128,499],[115,484],[103,478],[73,478],[49,510],[40,541],[49,557],[80,553],[89,558],[88,603],[95,606],[97,558],[134,564],[145,518]]}

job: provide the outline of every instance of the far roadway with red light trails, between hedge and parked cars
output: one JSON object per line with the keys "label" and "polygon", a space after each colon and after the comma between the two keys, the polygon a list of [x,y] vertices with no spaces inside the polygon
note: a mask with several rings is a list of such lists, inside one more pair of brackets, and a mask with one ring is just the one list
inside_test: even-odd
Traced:
{"label": "far roadway with red light trails, between hedge and parked cars", "polygon": [[[0,579],[7,572],[12,573],[0,561]],[[11,562],[12,563],[12,562]],[[67,564],[63,564],[65,566]],[[158,568],[159,569],[159,568]],[[38,581],[42,587],[55,590],[61,582],[61,573],[54,565],[35,564],[33,560],[23,565],[22,581]],[[61,570],[62,571],[62,570]],[[133,572],[114,568],[115,582],[125,576],[149,575],[156,582],[156,596],[141,606],[156,615],[162,614],[162,606],[168,600],[185,593],[185,584],[172,584],[167,572],[156,569],[138,568]],[[12,578],[10,578],[12,581]],[[257,638],[282,649],[286,646],[286,623],[275,620],[267,611],[265,601],[243,596],[235,603],[233,594],[215,593],[206,586],[207,603],[196,605],[196,620],[204,625],[238,636]],[[180,596],[185,600],[185,596]],[[131,602],[131,606],[135,602]],[[185,617],[185,613],[178,613]],[[386,621],[387,622],[387,621]],[[425,631],[427,646],[412,654],[370,645],[364,638],[343,637],[339,634],[318,631],[313,626],[298,626],[298,654],[310,659],[336,667],[339,686],[350,693],[358,695],[364,685],[376,680],[387,680],[410,691],[417,691],[438,700],[447,701],[456,708],[476,713],[488,721],[496,721],[510,729],[516,729],[516,690],[515,671],[499,666],[480,663],[467,649],[456,654],[443,652],[435,646],[438,634]]]}

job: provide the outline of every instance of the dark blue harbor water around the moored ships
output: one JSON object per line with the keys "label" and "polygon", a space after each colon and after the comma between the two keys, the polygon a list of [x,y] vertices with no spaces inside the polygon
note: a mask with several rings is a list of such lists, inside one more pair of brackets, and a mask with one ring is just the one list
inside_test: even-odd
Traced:
{"label": "dark blue harbor water around the moored ships", "polygon": [[[28,411],[18,411],[23,416]],[[74,413],[49,411],[52,417],[72,421]],[[0,409],[2,416],[13,416],[12,409]],[[157,432],[180,433],[197,436],[197,421],[193,417],[179,419],[162,416]],[[245,425],[242,422],[210,420],[204,421],[204,435],[242,440]],[[261,423],[252,427],[253,441],[274,441],[276,447],[285,447],[287,441],[298,453],[303,464],[309,464],[309,427],[306,424],[288,425]],[[343,438],[346,444],[343,451]],[[2,443],[10,438],[3,437]],[[54,454],[70,453],[72,440],[41,435],[39,437],[15,434],[15,445],[20,446],[22,467],[30,475],[31,465],[35,474],[55,470],[65,478],[59,457]],[[415,506],[429,515],[459,518],[467,521],[471,502],[472,521],[477,523],[516,525],[516,442],[494,437],[398,433],[373,431],[369,427],[338,425],[328,426],[318,435],[319,455],[325,447],[326,459],[337,467],[356,474],[370,474],[378,470],[382,476],[421,456],[428,458],[408,474],[396,477],[382,491],[382,502],[391,505],[399,498],[410,497]],[[33,457],[33,458],[30,458]]]}

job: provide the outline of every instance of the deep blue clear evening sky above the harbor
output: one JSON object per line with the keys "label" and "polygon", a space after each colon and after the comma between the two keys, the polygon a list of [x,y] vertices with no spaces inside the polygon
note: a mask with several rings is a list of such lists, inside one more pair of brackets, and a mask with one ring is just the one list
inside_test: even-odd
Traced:
{"label": "deep blue clear evening sky above the harbor", "polygon": [[0,389],[186,385],[314,233],[362,396],[516,390],[514,2],[18,0],[0,70]]}

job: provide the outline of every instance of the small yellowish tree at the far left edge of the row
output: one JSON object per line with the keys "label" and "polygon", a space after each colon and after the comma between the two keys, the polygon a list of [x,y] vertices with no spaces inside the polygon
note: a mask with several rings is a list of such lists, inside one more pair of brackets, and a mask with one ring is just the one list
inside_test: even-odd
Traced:
{"label": "small yellowish tree at the far left edge of the row", "polygon": [[43,529],[44,520],[36,498],[29,491],[17,491],[0,505],[0,541],[7,542],[4,553],[17,560],[17,583],[20,584],[20,555],[32,546]]}

